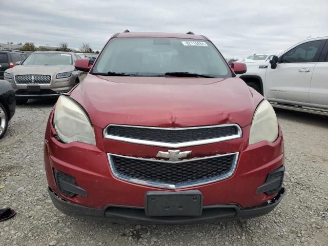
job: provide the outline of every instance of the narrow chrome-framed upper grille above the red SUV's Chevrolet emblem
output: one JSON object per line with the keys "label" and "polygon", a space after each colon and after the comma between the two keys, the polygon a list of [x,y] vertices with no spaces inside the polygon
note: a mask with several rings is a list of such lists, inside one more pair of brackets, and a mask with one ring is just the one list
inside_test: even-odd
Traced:
{"label": "narrow chrome-framed upper grille above the red SUV's Chevrolet emblem", "polygon": [[[179,143],[203,141],[196,144],[209,144],[241,137],[240,127],[236,124],[226,124],[208,127],[188,127],[188,128],[158,128],[158,127],[139,127],[124,125],[109,125],[105,131],[106,138],[135,142],[137,144],[148,144],[165,146],[171,148],[184,147]],[[206,141],[212,139],[213,141]],[[205,140],[205,141],[204,141]],[[144,142],[151,141],[151,142]],[[152,143],[153,142],[153,143]],[[155,144],[154,144],[155,142]],[[162,145],[168,143],[171,145]],[[192,146],[187,144],[185,146]]]}

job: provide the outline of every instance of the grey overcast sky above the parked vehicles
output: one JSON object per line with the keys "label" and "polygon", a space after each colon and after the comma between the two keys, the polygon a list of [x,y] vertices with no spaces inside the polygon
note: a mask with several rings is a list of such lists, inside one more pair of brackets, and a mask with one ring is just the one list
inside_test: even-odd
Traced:
{"label": "grey overcast sky above the parked vehicles", "polygon": [[278,54],[309,37],[328,35],[328,1],[0,0],[0,42],[101,49],[131,32],[193,31],[226,57]]}

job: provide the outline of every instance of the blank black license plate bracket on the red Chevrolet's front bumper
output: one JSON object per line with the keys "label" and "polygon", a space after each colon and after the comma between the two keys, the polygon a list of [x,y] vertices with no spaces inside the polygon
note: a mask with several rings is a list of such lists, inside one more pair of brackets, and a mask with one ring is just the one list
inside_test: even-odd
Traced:
{"label": "blank black license plate bracket on the red Chevrolet's front bumper", "polygon": [[145,196],[147,216],[200,216],[203,197],[200,191],[149,191]]}

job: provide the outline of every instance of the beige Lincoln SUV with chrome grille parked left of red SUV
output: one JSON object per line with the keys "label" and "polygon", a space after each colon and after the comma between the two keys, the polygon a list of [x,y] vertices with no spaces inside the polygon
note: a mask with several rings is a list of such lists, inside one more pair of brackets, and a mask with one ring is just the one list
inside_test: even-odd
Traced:
{"label": "beige Lincoln SUV with chrome grille parked left of red SUV", "polygon": [[4,77],[15,91],[17,104],[58,97],[81,81],[83,72],[74,68],[78,58],[73,52],[34,52],[20,66],[7,69]]}

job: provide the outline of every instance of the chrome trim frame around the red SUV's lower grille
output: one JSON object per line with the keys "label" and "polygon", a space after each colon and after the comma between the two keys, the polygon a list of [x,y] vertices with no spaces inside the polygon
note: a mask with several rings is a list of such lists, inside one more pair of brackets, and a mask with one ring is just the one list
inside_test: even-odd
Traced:
{"label": "chrome trim frame around the red SUV's lower grille", "polygon": [[[156,182],[156,181],[151,181],[151,180],[137,179],[137,178],[134,178],[134,177],[130,177],[130,176],[121,174],[116,170],[115,165],[114,165],[114,159],[113,159],[113,156],[119,156],[119,157],[123,157],[123,158],[130,158],[130,159],[137,159],[137,160],[177,163],[177,165],[178,165],[180,162],[196,161],[196,160],[201,160],[201,159],[216,158],[216,157],[227,156],[227,155],[234,155],[233,160],[232,160],[231,169],[228,173],[225,173],[223,175],[219,175],[219,176],[216,176],[216,177],[212,177],[212,178],[201,179],[201,180],[192,181],[192,182],[179,183],[177,185],[172,185],[171,183],[163,183],[163,182]],[[175,190],[175,189],[189,188],[189,187],[194,187],[194,186],[207,185],[208,183],[217,182],[217,181],[220,181],[220,180],[227,179],[227,178],[231,177],[234,174],[234,172],[236,170],[236,167],[237,167],[239,152],[228,153],[228,154],[223,154],[223,155],[213,155],[213,156],[200,157],[200,158],[192,158],[192,159],[179,160],[179,161],[166,161],[166,160],[157,160],[157,159],[147,159],[147,158],[131,157],[131,156],[111,154],[111,153],[107,153],[107,156],[108,156],[109,166],[110,166],[110,169],[112,171],[112,174],[116,178],[124,180],[124,181],[131,182],[131,183],[136,183],[138,185],[144,185],[144,186],[150,186],[150,187],[157,187],[157,188]]]}

